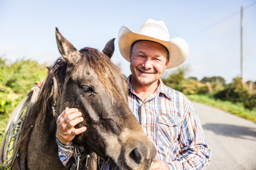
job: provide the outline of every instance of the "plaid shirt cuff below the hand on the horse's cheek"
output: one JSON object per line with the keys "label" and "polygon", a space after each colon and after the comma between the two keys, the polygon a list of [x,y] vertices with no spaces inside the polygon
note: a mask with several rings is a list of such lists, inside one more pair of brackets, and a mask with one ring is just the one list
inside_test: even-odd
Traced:
{"label": "plaid shirt cuff below the hand on the horse's cheek", "polygon": [[64,166],[67,166],[70,163],[69,160],[74,150],[74,143],[70,141],[70,144],[68,146],[63,145],[62,143],[60,143],[57,137],[56,137],[56,143],[58,145],[60,161]]}

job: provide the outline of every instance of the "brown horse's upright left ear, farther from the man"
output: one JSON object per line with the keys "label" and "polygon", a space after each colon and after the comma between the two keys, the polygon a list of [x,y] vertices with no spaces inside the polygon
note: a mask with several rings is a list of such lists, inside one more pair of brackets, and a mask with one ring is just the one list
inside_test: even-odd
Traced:
{"label": "brown horse's upright left ear, farther from the man", "polygon": [[70,61],[72,53],[78,52],[77,49],[60,33],[59,29],[56,27],[56,41],[60,54],[65,60]]}

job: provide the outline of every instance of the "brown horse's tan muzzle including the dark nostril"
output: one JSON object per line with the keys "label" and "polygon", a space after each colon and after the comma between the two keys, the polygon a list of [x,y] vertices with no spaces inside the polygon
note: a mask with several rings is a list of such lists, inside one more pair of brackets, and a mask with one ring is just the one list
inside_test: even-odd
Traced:
{"label": "brown horse's tan muzzle including the dark nostril", "polygon": [[[149,170],[156,149],[146,134],[123,129],[120,135],[105,138],[106,157],[121,170]],[[110,145],[110,143],[112,145]]]}

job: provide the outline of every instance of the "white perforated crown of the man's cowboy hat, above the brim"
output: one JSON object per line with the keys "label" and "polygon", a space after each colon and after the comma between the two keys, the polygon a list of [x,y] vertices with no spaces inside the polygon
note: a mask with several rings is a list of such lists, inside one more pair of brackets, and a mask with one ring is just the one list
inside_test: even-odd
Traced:
{"label": "white perforated crown of the man's cowboy hat, above the brim", "polygon": [[155,21],[153,19],[149,19],[140,27],[138,33],[163,41],[170,40],[168,29],[163,21]]}

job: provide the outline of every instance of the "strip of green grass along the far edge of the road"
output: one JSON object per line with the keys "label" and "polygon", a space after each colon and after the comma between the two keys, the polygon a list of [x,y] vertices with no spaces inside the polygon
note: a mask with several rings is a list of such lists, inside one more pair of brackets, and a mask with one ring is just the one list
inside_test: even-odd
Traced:
{"label": "strip of green grass along the far edge of the road", "polygon": [[232,103],[229,101],[222,101],[222,100],[216,100],[211,95],[196,95],[196,94],[190,94],[186,95],[186,97],[190,101],[199,102],[206,104],[208,106],[217,107],[223,111],[226,111],[228,113],[232,113],[234,115],[238,115],[240,117],[243,117],[247,120],[250,120],[254,123],[256,123],[256,108],[250,110],[244,108],[242,103]]}

